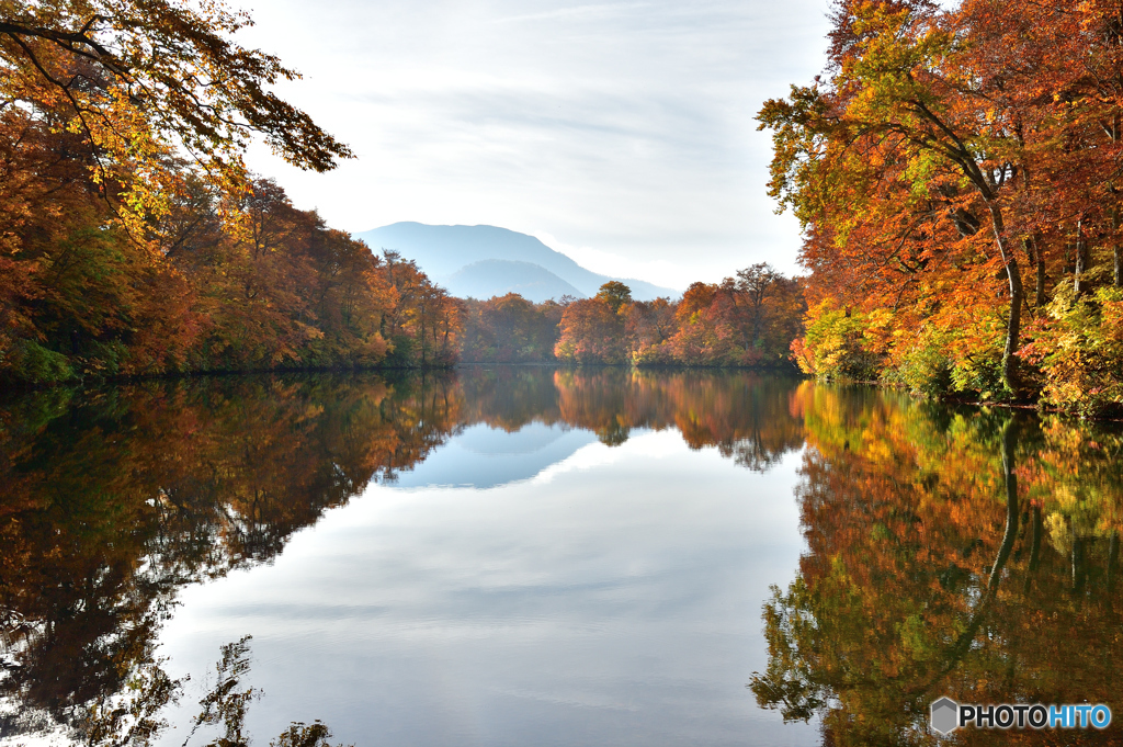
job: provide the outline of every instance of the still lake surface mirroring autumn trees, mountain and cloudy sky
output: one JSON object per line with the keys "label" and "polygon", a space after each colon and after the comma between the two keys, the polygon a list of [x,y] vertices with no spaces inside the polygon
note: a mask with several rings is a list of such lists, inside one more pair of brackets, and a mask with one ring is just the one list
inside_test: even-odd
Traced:
{"label": "still lake surface mirroring autumn trees, mountain and cloudy sky", "polygon": [[1121,456],[747,372],[22,394],[0,744],[1121,744],[928,722],[943,695],[1123,719]]}

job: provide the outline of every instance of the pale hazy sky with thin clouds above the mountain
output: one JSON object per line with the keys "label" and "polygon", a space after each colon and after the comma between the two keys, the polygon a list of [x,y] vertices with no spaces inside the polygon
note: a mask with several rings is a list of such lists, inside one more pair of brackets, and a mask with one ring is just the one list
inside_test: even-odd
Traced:
{"label": "pale hazy sky with thin clouds above the mountain", "polygon": [[685,288],[795,268],[765,193],[761,102],[822,65],[827,0],[256,0],[245,43],[357,160],[250,165],[360,231],[399,220],[532,234],[590,270]]}

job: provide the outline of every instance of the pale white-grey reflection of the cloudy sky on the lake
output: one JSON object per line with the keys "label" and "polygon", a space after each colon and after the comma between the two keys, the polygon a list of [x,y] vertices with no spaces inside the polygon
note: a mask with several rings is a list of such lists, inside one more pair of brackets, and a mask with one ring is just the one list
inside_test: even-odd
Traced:
{"label": "pale white-grey reflection of the cloudy sky on the lake", "polygon": [[186,590],[166,653],[206,666],[212,640],[253,632],[262,734],[322,718],[344,743],[816,744],[743,687],[768,583],[802,547],[796,462],[756,475],[668,429],[493,490],[372,486],[274,566]]}

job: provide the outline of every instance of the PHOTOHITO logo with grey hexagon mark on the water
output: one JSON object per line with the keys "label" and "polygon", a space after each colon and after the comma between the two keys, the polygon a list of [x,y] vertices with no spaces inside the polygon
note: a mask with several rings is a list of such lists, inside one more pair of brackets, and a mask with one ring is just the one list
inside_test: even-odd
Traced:
{"label": "PHOTOHITO logo with grey hexagon mark on the water", "polygon": [[971,725],[976,729],[1106,729],[1112,722],[1112,709],[1103,703],[966,705],[941,698],[931,709],[932,730],[941,735]]}

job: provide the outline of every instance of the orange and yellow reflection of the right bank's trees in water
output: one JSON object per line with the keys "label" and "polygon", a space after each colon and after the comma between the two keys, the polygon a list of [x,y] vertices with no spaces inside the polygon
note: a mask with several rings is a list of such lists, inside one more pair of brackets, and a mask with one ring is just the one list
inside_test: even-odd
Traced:
{"label": "orange and yellow reflection of the right bank's trees in water", "polygon": [[797,399],[809,552],[765,608],[761,704],[821,713],[836,745],[929,744],[943,694],[1119,704],[1123,439],[870,390],[809,384]]}

